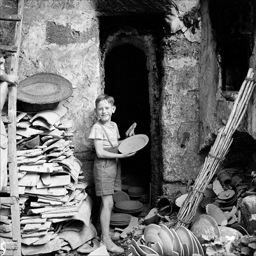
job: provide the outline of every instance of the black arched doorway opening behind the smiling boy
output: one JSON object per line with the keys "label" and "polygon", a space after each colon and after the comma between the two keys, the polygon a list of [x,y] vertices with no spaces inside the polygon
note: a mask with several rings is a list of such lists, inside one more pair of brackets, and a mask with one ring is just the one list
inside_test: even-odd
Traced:
{"label": "black arched doorway opening behind the smiling boy", "polygon": [[105,60],[105,93],[115,98],[116,122],[121,139],[135,122],[135,134],[146,134],[149,142],[135,156],[121,160],[122,176],[130,186],[140,186],[149,192],[151,182],[150,105],[147,57],[132,44],[114,47]]}

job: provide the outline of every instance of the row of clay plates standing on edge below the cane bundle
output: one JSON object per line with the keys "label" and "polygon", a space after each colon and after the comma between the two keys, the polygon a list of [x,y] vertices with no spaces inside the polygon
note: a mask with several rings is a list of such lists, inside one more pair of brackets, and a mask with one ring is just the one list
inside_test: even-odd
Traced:
{"label": "row of clay plates standing on edge below the cane bundle", "polygon": [[204,255],[203,248],[196,236],[183,226],[169,229],[163,224],[149,224],[144,230],[144,237],[145,245],[143,247],[137,246],[132,241],[134,255],[145,255],[144,252],[148,253],[152,250],[155,255]]}

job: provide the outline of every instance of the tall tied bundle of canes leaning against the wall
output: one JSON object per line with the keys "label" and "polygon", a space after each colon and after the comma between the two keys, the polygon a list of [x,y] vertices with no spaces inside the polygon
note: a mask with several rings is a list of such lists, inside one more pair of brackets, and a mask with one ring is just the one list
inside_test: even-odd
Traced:
{"label": "tall tied bundle of canes leaning against the wall", "polygon": [[215,171],[220,167],[221,162],[228,153],[229,147],[233,141],[232,135],[244,116],[248,101],[251,98],[252,91],[255,86],[253,76],[253,69],[249,68],[247,76],[237,94],[228,122],[218,131],[217,138],[208,156],[205,158],[203,167],[196,178],[192,190],[180,208],[174,225],[175,227],[188,227],[191,223],[192,218],[195,216],[198,204],[202,200],[206,187],[209,185]]}

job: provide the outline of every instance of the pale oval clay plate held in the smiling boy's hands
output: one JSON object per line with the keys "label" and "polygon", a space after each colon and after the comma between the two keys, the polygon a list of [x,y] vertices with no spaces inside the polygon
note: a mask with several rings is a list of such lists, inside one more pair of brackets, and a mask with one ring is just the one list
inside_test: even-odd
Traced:
{"label": "pale oval clay plate held in the smiling boy's hands", "polygon": [[133,135],[125,140],[123,140],[118,150],[121,153],[128,153],[128,152],[136,152],[141,148],[144,148],[148,144],[148,136],[145,134],[137,134]]}

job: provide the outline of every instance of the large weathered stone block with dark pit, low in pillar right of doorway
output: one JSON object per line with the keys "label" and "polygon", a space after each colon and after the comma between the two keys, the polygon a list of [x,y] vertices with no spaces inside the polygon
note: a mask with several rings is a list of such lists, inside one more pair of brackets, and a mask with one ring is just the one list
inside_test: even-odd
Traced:
{"label": "large weathered stone block with dark pit, low in pillar right of doorway", "polygon": [[162,156],[164,181],[195,179],[204,156],[197,154],[198,123],[163,126]]}

